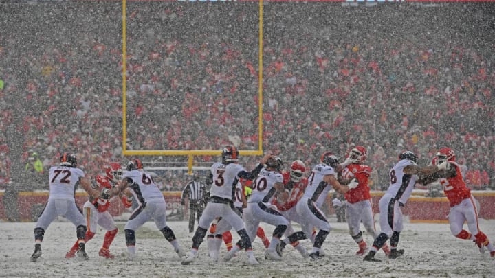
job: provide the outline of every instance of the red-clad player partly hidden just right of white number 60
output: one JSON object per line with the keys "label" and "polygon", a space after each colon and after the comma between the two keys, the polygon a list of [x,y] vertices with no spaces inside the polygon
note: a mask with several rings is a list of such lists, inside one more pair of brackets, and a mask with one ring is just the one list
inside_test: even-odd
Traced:
{"label": "red-clad player partly hidden just right of white number 60", "polygon": [[[305,189],[308,185],[308,180],[304,176],[306,172],[306,165],[303,161],[292,161],[291,169],[289,172],[282,172],[284,178],[285,190],[289,194],[287,200],[281,198],[274,198],[273,204],[276,205],[278,211],[289,220],[287,230],[285,230],[285,236],[287,238],[281,240],[277,246],[276,251],[278,255],[282,256],[283,249],[287,244],[291,244],[303,257],[309,257],[306,249],[299,244],[299,240],[307,238],[305,233],[295,233],[294,228],[290,222],[300,223],[300,216],[296,211],[297,202],[303,197]],[[311,236],[311,235],[309,235]]]}

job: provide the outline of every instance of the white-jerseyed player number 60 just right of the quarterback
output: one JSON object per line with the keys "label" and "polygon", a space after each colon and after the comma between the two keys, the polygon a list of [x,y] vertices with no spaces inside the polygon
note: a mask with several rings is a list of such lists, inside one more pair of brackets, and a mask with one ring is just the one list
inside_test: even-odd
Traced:
{"label": "white-jerseyed player number 60 just right of the quarterback", "polygon": [[[258,178],[254,181],[252,194],[248,200],[248,207],[244,209],[243,220],[246,230],[250,236],[251,242],[256,239],[256,231],[259,228],[260,222],[265,222],[276,226],[270,246],[265,251],[266,259],[281,260],[282,257],[276,253],[276,245],[280,241],[283,233],[289,225],[289,220],[276,210],[276,206],[272,205],[272,200],[276,194],[285,194],[285,199],[288,198],[287,192],[283,184],[282,159],[280,157],[272,157],[268,159],[266,168],[261,170]],[[225,255],[225,259],[230,259],[241,249],[239,241],[231,251]]]}

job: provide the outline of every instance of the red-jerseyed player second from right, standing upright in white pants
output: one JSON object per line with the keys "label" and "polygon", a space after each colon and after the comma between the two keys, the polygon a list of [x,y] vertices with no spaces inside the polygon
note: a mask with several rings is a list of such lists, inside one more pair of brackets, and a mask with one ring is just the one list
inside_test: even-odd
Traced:
{"label": "red-jerseyed player second from right, standing upright in white pants", "polygon": [[[349,151],[346,161],[341,164],[342,170],[339,172],[339,181],[342,184],[347,184],[353,178],[358,180],[358,187],[349,190],[344,194],[347,200],[346,220],[349,226],[349,234],[358,244],[359,250],[356,255],[364,255],[368,251],[368,246],[363,239],[362,231],[360,231],[360,223],[362,222],[366,231],[376,238],[380,233],[375,227],[375,213],[371,203],[370,188],[368,185],[369,176],[371,175],[371,167],[364,164],[366,161],[367,151],[363,146],[356,146]],[[382,246],[383,251],[388,256],[391,249],[388,244]],[[396,250],[397,246],[392,246],[392,250]],[[395,251],[394,251],[395,252]]]}

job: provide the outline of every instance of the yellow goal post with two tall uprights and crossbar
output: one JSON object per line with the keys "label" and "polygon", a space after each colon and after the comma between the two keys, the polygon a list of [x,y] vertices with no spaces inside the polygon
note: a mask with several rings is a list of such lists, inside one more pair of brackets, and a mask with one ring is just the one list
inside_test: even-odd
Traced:
{"label": "yellow goal post with two tall uprights and crossbar", "polygon": [[[126,105],[126,0],[122,0],[122,154],[124,156],[187,156],[189,173],[194,156],[218,156],[221,150],[127,150]],[[239,150],[246,156],[263,155],[263,0],[259,0],[259,58],[258,58],[258,150]]]}

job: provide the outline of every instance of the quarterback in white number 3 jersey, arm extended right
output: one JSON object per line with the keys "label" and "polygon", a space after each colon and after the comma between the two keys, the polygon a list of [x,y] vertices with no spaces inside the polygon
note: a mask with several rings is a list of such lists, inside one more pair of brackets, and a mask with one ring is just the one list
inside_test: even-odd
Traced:
{"label": "quarterback in white number 3 jersey, arm extended right", "polygon": [[210,189],[210,200],[203,211],[203,215],[199,218],[199,224],[195,235],[192,237],[192,248],[189,255],[182,260],[182,264],[190,264],[195,260],[199,245],[203,242],[203,238],[210,227],[214,218],[221,216],[222,219],[229,222],[237,231],[241,238],[242,246],[248,253],[249,264],[259,264],[252,251],[251,240],[248,232],[244,227],[242,218],[234,211],[234,193],[237,181],[239,178],[253,180],[258,176],[267,163],[271,154],[266,154],[261,163],[252,170],[246,172],[242,165],[239,165],[239,150],[234,146],[226,146],[222,150],[222,162],[214,163],[210,169],[210,179],[212,187]]}

